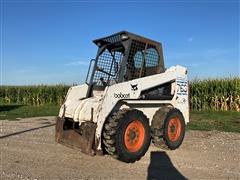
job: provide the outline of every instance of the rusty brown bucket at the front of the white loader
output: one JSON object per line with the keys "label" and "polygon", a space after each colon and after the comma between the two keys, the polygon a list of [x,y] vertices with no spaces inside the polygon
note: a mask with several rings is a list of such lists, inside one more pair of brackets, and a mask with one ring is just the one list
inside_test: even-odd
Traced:
{"label": "rusty brown bucket at the front of the white loader", "polygon": [[93,142],[97,125],[92,122],[86,122],[81,129],[65,129],[64,118],[57,117],[55,128],[55,141],[74,149],[80,149],[81,152],[94,155]]}

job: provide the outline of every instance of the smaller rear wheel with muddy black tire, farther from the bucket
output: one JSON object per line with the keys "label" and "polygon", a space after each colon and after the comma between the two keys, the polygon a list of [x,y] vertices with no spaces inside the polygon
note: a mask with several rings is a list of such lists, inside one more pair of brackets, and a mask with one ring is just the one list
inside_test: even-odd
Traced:
{"label": "smaller rear wheel with muddy black tire, farther from the bucket", "polygon": [[[177,132],[173,130],[174,133],[168,131],[172,119],[175,119],[174,122],[176,121],[178,124]],[[174,126],[174,128],[176,127]],[[177,149],[182,144],[185,136],[184,117],[178,109],[160,108],[153,116],[151,130],[154,145],[162,149]],[[173,138],[172,134],[175,134],[176,137]]]}

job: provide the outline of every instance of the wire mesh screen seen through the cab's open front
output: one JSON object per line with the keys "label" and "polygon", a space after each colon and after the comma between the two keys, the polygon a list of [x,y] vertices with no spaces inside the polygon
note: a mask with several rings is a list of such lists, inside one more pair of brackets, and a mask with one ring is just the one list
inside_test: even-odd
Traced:
{"label": "wire mesh screen seen through the cab's open front", "polygon": [[123,54],[121,52],[114,51],[110,53],[108,49],[98,57],[97,67],[107,73],[95,71],[93,82],[96,83],[96,86],[104,86],[103,81],[108,85],[116,82],[118,76],[117,71],[120,67],[122,57]]}

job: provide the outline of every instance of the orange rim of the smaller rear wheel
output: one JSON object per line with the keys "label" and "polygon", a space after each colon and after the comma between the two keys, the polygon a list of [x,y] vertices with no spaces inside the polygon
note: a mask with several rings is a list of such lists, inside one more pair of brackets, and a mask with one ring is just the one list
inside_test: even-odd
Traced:
{"label": "orange rim of the smaller rear wheel", "polygon": [[181,133],[181,123],[177,117],[170,119],[168,123],[168,138],[170,141],[176,141]]}

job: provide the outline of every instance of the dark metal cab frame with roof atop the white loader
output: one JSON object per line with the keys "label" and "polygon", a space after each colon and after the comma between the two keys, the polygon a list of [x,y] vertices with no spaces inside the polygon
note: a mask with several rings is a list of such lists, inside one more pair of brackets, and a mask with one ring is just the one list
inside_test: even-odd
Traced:
{"label": "dark metal cab frame with roof atop the white loader", "polygon": [[[151,39],[127,32],[127,31],[121,31],[118,33],[115,33],[113,35],[107,36],[107,37],[103,37],[103,38],[99,38],[93,41],[98,47],[98,52],[96,55],[96,60],[95,60],[95,65],[94,68],[92,70],[92,74],[91,74],[91,78],[89,81],[90,85],[93,86],[99,86],[96,85],[96,83],[94,82],[94,76],[96,75],[98,69],[98,63],[99,63],[99,57],[104,53],[104,51],[106,49],[108,49],[109,51],[111,51],[112,49],[117,49],[117,48],[123,48],[123,57],[120,60],[120,64],[119,64],[119,69],[116,75],[116,82],[124,82],[124,81],[129,81],[132,79],[136,79],[136,78],[140,78],[140,77],[144,77],[143,72],[145,71],[146,67],[144,67],[145,61],[146,61],[146,50],[148,47],[154,47],[157,51],[158,54],[158,70],[156,73],[162,73],[164,72],[165,68],[164,68],[164,63],[163,63],[163,54],[162,54],[162,46],[161,43],[153,41]],[[141,65],[141,69],[139,71],[139,75],[136,75],[136,77],[134,77],[134,75],[132,75],[132,77],[129,77],[127,79],[125,79],[125,75],[126,73],[133,73],[135,74],[135,68],[134,67],[130,67],[129,66],[129,61],[130,61],[130,53],[132,53],[132,49],[134,48],[134,43],[141,43],[144,44],[145,48],[144,48],[144,53],[143,53],[143,61],[142,61],[142,65]],[[138,47],[139,48],[139,47]],[[133,61],[133,57],[132,57],[132,62]],[[109,62],[111,63],[111,62]],[[90,67],[89,67],[90,68]],[[112,67],[111,67],[112,68]],[[127,69],[126,69],[127,68]],[[133,68],[131,70],[131,68]],[[88,75],[87,75],[87,79],[89,78],[89,71],[88,70]],[[132,72],[130,72],[132,71]],[[137,73],[136,73],[137,74]],[[109,80],[110,76],[107,78],[107,80]],[[104,88],[102,88],[104,89]]]}

